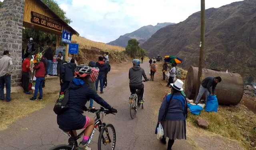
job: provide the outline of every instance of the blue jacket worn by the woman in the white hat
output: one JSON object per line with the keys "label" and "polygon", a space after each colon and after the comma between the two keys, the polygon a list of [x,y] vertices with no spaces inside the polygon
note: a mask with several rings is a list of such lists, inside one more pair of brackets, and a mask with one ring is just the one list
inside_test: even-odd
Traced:
{"label": "blue jacket worn by the woman in the white hat", "polygon": [[[171,96],[172,94],[168,94],[164,97],[164,101],[159,109],[158,122],[161,122],[162,119],[185,120],[188,112],[185,97],[182,96],[181,93],[177,93],[172,97],[172,100],[170,100]],[[163,118],[168,101],[170,101],[170,103],[167,109],[166,117]]]}

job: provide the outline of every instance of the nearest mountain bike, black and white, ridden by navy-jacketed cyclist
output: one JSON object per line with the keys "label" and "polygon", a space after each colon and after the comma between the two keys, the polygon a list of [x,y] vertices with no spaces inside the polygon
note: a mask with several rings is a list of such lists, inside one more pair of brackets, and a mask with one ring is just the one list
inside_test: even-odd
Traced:
{"label": "nearest mountain bike, black and white, ridden by navy-jacketed cyclist", "polygon": [[[102,122],[104,118],[104,114],[106,116],[106,114],[113,114],[113,113],[111,113],[109,110],[104,109],[103,107],[100,107],[100,109],[85,109],[84,111],[96,113],[96,116],[94,117],[94,120],[95,120],[94,129],[88,140],[87,145],[89,146],[90,142],[92,141],[94,132],[97,129],[100,132],[100,135],[98,138],[98,150],[102,150],[103,147],[105,147],[104,149],[107,149],[107,150],[114,150],[116,146],[116,130],[112,124],[106,124]],[[72,130],[64,131],[63,133],[70,137],[68,139],[68,145],[57,145],[51,148],[50,150],[83,150],[78,146],[77,140],[84,135],[84,130],[77,136],[74,135],[74,132]],[[110,134],[110,131],[112,132],[112,134]]]}

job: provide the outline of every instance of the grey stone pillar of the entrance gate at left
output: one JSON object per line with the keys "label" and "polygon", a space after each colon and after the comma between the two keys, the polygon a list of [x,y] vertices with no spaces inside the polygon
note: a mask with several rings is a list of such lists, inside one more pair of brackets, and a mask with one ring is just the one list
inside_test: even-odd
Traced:
{"label": "grey stone pillar of the entrance gate at left", "polygon": [[24,0],[4,0],[0,9],[0,58],[8,50],[12,57],[12,86],[21,83],[22,26]]}

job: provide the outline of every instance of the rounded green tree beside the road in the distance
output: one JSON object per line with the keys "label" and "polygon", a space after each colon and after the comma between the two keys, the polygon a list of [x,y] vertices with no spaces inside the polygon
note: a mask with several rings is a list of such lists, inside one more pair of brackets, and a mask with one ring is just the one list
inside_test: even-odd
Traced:
{"label": "rounded green tree beside the road in the distance", "polygon": [[136,39],[130,39],[128,41],[128,45],[125,48],[125,51],[130,55],[130,57],[135,58],[139,49],[139,42]]}

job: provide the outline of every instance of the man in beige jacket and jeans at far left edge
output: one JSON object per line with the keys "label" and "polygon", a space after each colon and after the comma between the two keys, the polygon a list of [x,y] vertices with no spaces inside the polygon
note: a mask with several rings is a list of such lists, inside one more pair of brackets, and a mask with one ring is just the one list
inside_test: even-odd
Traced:
{"label": "man in beige jacket and jeans at far left edge", "polygon": [[0,99],[4,100],[4,85],[6,87],[6,101],[11,101],[11,73],[12,58],[9,51],[4,51],[4,56],[0,59]]}

